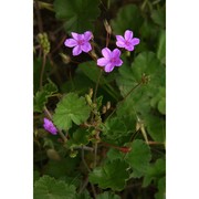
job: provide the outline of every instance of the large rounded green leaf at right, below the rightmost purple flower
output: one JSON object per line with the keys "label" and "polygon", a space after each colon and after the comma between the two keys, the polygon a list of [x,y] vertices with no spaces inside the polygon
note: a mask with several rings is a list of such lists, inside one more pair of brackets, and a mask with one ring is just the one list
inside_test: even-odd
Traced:
{"label": "large rounded green leaf at right, below the rightmost purple flower", "polygon": [[[149,77],[149,83],[136,88],[133,92],[134,97],[136,97],[135,92],[137,90],[139,90],[138,95],[144,92],[147,95],[153,95],[157,92],[157,86],[165,85],[165,67],[154,52],[139,53],[130,66],[128,63],[124,63],[118,71],[121,75],[117,78],[117,85],[123,96],[142,81],[143,74]],[[139,98],[140,96],[137,96],[136,102]]]}

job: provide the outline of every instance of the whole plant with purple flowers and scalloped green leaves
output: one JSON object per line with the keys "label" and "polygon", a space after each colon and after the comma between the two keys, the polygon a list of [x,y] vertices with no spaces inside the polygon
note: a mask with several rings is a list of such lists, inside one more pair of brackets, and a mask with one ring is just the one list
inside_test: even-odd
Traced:
{"label": "whole plant with purple flowers and scalloped green leaves", "polygon": [[101,32],[100,4],[55,0],[63,38],[35,36],[34,199],[166,197],[163,12],[123,4]]}

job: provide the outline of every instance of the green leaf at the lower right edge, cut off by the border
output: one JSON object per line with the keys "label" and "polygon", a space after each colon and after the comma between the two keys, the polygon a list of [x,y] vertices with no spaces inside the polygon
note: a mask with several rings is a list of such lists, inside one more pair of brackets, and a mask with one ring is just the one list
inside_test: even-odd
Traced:
{"label": "green leaf at the lower right edge, cut off by the border", "polygon": [[157,159],[155,164],[150,164],[144,177],[143,187],[147,187],[153,179],[160,179],[166,172],[165,159]]}

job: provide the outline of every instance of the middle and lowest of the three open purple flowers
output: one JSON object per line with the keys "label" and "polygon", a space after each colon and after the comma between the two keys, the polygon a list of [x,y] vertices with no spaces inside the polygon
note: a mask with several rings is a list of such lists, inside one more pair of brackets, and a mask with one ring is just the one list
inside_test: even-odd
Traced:
{"label": "middle and lowest of the three open purple flowers", "polygon": [[105,48],[102,50],[102,54],[104,57],[97,60],[97,65],[105,66],[105,72],[109,73],[114,70],[115,66],[121,66],[123,61],[119,59],[121,51],[118,49],[114,49],[113,52]]}

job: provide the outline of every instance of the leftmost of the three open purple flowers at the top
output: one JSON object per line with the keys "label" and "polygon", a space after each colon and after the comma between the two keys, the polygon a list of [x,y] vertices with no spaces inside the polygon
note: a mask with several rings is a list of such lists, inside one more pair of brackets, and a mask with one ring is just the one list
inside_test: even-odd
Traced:
{"label": "leftmost of the three open purple flowers at the top", "polygon": [[92,50],[91,43],[88,42],[93,38],[91,31],[86,31],[83,34],[77,34],[75,32],[72,32],[71,34],[73,39],[65,40],[64,44],[65,46],[74,48],[73,49],[74,56],[82,53],[82,51],[87,53],[88,51]]}

